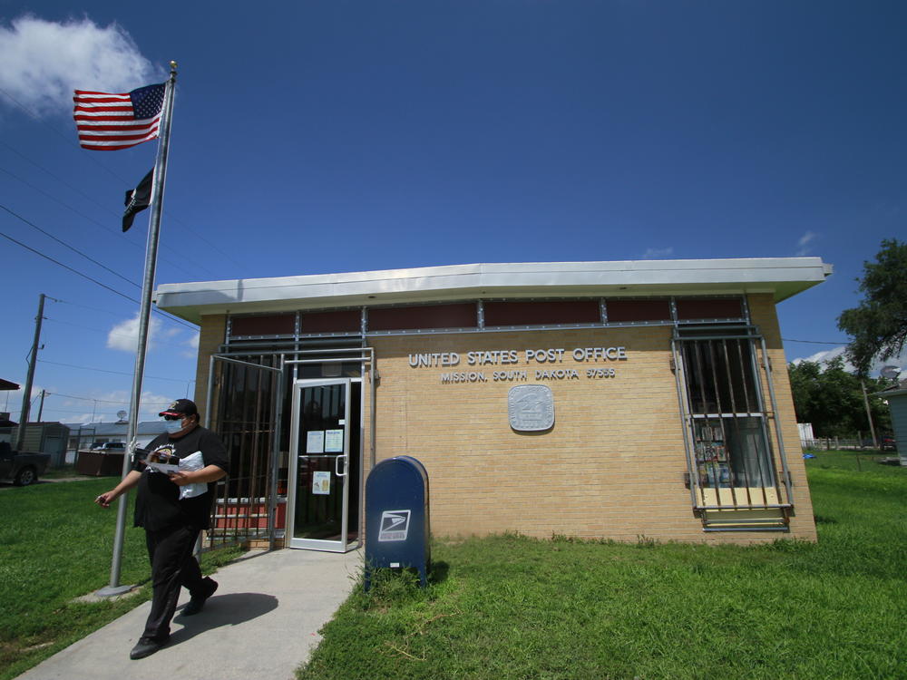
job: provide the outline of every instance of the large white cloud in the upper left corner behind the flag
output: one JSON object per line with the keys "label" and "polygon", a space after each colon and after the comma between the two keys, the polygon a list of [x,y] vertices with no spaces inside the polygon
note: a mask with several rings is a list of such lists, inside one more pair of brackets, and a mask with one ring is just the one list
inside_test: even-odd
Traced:
{"label": "large white cloud in the upper left corner behind the flag", "polygon": [[0,87],[39,115],[72,112],[76,88],[128,92],[166,77],[119,24],[87,17],[57,23],[24,15],[0,24],[0,63]]}

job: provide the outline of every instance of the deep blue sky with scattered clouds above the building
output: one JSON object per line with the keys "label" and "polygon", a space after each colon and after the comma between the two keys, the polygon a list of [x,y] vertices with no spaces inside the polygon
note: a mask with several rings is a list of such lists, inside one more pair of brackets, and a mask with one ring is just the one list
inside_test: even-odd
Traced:
{"label": "deep blue sky with scattered clouds above the building", "polygon": [[[54,298],[45,420],[128,409],[138,305],[9,238],[138,299],[122,196],[156,142],[80,149],[72,90],[171,59],[158,283],[819,256],[834,276],[779,306],[792,360],[839,351],[863,261],[907,236],[901,2],[0,0],[0,377]],[[194,390],[196,334],[156,318],[143,416]]]}

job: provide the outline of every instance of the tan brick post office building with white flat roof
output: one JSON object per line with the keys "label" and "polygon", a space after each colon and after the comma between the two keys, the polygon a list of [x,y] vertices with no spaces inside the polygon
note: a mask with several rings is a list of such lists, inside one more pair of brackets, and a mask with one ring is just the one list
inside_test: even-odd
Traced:
{"label": "tan brick post office building with white flat roof", "polygon": [[815,539],[775,305],[818,257],[165,284],[228,442],[212,541],[346,550],[410,455],[435,535]]}

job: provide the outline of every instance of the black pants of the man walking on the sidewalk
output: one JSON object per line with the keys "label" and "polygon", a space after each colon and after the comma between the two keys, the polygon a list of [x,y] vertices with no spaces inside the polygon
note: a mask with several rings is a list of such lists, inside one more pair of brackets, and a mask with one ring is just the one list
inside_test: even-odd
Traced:
{"label": "black pants of the man walking on the sidewalk", "polygon": [[201,590],[201,569],[192,555],[199,529],[169,527],[160,531],[145,531],[148,557],[151,559],[151,614],[145,623],[143,637],[164,640],[170,635],[170,622],[180,598],[180,587],[190,593]]}

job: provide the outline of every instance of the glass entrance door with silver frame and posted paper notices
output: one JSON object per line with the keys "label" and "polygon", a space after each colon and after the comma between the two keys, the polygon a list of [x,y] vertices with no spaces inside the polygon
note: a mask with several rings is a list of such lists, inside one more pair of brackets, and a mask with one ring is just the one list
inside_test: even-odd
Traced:
{"label": "glass entrance door with silver frame and posted paper notices", "polygon": [[293,387],[290,548],[346,552],[359,538],[361,387],[349,378]]}

